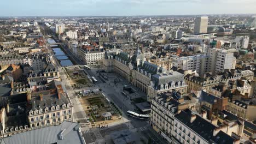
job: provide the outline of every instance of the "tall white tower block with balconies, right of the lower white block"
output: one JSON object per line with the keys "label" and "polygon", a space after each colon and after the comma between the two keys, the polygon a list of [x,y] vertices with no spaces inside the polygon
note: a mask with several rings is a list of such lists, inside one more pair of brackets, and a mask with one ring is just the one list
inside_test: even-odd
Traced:
{"label": "tall white tower block with balconies, right of the lower white block", "polygon": [[221,73],[225,69],[235,69],[236,58],[227,50],[208,49],[207,56],[209,57],[208,71],[212,74]]}

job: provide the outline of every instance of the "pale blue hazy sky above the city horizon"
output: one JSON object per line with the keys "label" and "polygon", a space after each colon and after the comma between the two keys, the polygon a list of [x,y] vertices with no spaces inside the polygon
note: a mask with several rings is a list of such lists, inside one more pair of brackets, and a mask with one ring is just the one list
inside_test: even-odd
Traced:
{"label": "pale blue hazy sky above the city horizon", "polygon": [[1,0],[0,16],[256,13],[256,0]]}

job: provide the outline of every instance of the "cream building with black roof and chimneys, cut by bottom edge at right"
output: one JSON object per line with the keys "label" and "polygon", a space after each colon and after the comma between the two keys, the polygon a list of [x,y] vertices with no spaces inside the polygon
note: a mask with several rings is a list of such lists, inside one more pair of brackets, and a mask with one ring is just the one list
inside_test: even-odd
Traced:
{"label": "cream building with black roof and chimneys, cut by bottom edge at right", "polygon": [[208,121],[206,113],[202,116],[186,109],[174,116],[173,143],[240,143],[240,137],[232,133],[228,126],[218,126],[217,119]]}

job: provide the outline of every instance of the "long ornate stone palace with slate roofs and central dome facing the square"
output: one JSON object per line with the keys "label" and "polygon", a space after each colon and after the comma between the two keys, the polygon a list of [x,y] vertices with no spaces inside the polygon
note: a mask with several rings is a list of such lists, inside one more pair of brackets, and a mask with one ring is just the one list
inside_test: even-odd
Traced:
{"label": "long ornate stone palace with slate roofs and central dome facing the square", "polygon": [[140,50],[133,56],[121,50],[107,50],[103,61],[104,70],[119,74],[148,95],[151,101],[158,93],[175,90],[181,94],[187,92],[184,76],[177,71],[167,71],[158,65],[149,63]]}

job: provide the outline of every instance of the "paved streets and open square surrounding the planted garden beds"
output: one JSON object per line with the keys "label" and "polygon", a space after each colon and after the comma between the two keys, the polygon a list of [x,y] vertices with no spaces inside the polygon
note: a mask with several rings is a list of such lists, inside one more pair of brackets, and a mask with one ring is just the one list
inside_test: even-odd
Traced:
{"label": "paved streets and open square surrounding the planted garden beds", "polygon": [[[62,45],[62,47],[65,50],[65,52],[68,53],[68,55],[72,58],[75,64],[84,64],[82,61],[80,61],[79,58],[75,57],[65,45]],[[85,69],[85,71],[86,73],[88,73],[88,75],[94,76],[98,80],[98,82],[94,85],[94,87],[82,89],[101,88],[104,95],[106,95],[106,97],[110,101],[113,101],[113,103],[117,105],[121,111],[123,111],[123,121],[109,124],[109,129],[90,128],[90,123],[86,123],[87,115],[83,110],[80,101],[75,95],[75,91],[81,91],[82,89],[73,89],[71,87],[71,84],[69,83],[69,80],[67,80],[65,72],[61,68],[61,65],[57,61],[56,57],[54,56],[54,53],[49,44],[47,48],[49,50],[49,55],[51,56],[51,61],[55,61],[55,67],[59,68],[60,77],[62,79],[62,86],[64,87],[64,90],[67,92],[68,97],[73,105],[74,121],[80,122],[82,126],[82,134],[85,137],[86,142],[91,143],[96,141],[98,143],[111,143],[108,136],[110,131],[120,130],[124,128],[128,128],[131,131],[135,131],[136,133],[138,132],[138,134],[142,135],[141,138],[144,140],[149,139],[149,137],[160,137],[157,133],[154,133],[155,131],[150,127],[148,121],[138,120],[136,118],[132,118],[126,115],[126,111],[136,110],[136,107],[131,103],[130,98],[126,98],[124,95],[121,94],[124,85],[131,86],[130,83],[128,83],[124,79],[121,79],[120,76],[115,75],[113,73],[104,73],[104,75],[109,77],[109,79],[106,80],[102,76],[100,76],[100,74],[97,73],[98,70],[101,70],[97,67],[93,67],[91,70]],[[118,80],[118,82],[114,83],[114,81],[116,80]],[[133,88],[136,89],[137,92],[133,95],[130,95],[130,97],[143,97],[144,99],[146,99],[146,94],[139,91],[138,88],[136,87]],[[155,143],[165,143],[165,141],[159,140],[158,138],[154,138],[153,141]]]}

